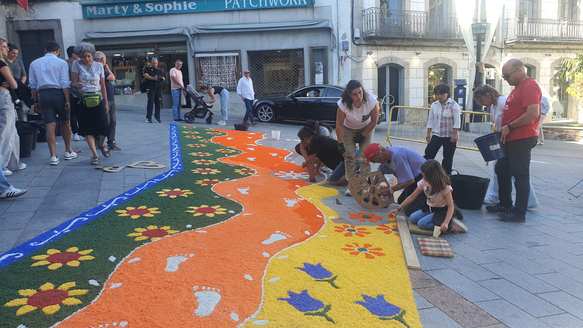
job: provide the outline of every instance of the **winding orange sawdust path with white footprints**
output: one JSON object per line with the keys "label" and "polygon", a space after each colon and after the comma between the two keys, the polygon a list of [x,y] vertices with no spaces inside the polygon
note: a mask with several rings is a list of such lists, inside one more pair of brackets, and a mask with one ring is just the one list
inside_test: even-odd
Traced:
{"label": "winding orange sawdust path with white footprints", "polygon": [[[111,322],[127,322],[131,327],[234,327],[257,311],[269,258],[309,238],[305,232],[317,232],[324,219],[314,204],[298,200],[295,193],[297,186],[309,183],[270,175],[301,171],[286,162],[288,151],[255,145],[262,134],[221,131],[228,135],[214,137],[213,141],[243,153],[220,161],[257,170],[255,175],[241,175],[243,179],[213,187],[217,194],[230,195],[243,204],[243,214],[135,250],[111,275],[99,298],[59,327],[93,327]],[[198,184],[189,186],[195,193],[202,190],[199,188]],[[284,198],[295,199],[297,204],[289,207]],[[270,241],[262,243],[265,240]],[[177,270],[164,271],[168,257],[175,254],[194,256],[187,256]],[[140,260],[128,263],[136,258]],[[119,283],[122,285],[110,289]]]}

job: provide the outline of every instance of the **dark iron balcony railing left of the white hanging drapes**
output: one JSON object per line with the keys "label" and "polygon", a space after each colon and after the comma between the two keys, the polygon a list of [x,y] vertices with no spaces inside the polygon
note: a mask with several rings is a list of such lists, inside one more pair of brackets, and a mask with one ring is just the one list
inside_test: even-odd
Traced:
{"label": "dark iron balcony railing left of the white hanging drapes", "polygon": [[363,11],[364,36],[462,39],[455,13],[368,8]]}

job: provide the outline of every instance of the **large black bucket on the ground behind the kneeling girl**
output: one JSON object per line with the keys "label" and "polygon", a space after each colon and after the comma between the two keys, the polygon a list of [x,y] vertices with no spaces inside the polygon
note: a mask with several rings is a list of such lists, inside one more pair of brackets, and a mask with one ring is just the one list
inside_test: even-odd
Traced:
{"label": "large black bucket on the ground behind the kneeling girl", "polygon": [[487,177],[461,175],[458,170],[456,175],[450,175],[452,197],[455,204],[464,210],[480,210],[484,203],[484,198],[488,193],[490,179]]}

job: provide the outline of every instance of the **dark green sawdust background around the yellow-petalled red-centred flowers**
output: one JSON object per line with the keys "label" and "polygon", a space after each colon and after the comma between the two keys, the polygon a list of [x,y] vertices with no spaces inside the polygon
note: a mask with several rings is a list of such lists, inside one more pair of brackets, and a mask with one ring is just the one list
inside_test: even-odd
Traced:
{"label": "dark green sawdust background around the yellow-petalled red-centred flowers", "polygon": [[[199,134],[184,133],[186,131],[196,131]],[[218,179],[219,181],[224,181],[226,179],[233,180],[249,176],[243,176],[234,172],[235,169],[245,169],[243,166],[233,166],[217,161],[219,158],[241,153],[240,151],[237,150],[233,153],[219,152],[217,151],[218,149],[236,149],[228,148],[215,142],[199,142],[202,139],[186,137],[187,135],[198,135],[203,137],[203,139],[210,139],[218,135],[226,135],[223,132],[217,131],[214,131],[215,134],[207,134],[207,132],[211,131],[205,128],[178,128],[184,171],[164,180],[156,186],[150,187],[150,189],[143,191],[131,200],[118,205],[101,215],[101,217],[75,229],[62,238],[39,249],[37,252],[1,268],[0,327],[16,328],[20,324],[23,324],[27,328],[50,327],[64,320],[73,312],[89,305],[99,295],[104,282],[106,282],[108,276],[114,271],[117,264],[132,252],[132,250],[136,249],[136,247],[150,242],[150,239],[135,241],[135,237],[127,236],[129,233],[135,233],[135,228],[147,228],[150,225],[155,225],[158,228],[170,226],[171,230],[183,232],[216,224],[217,222],[240,214],[243,210],[240,204],[216,194],[211,190],[212,186],[210,185],[204,186],[196,184],[196,180]],[[206,146],[196,148],[187,146],[187,144],[205,144]],[[205,152],[211,155],[189,155],[192,152]],[[212,165],[191,163],[195,159],[215,160],[217,163]],[[216,169],[220,173],[206,175],[192,173],[191,170],[199,168]],[[191,190],[194,194],[190,194],[188,197],[178,196],[170,198],[168,196],[160,197],[156,193],[156,191],[162,191],[163,189],[174,190],[176,188]],[[227,215],[215,215],[215,217],[210,218],[206,215],[193,217],[191,213],[185,212],[191,210],[187,207],[200,207],[201,205],[208,205],[210,207],[220,205],[222,208],[226,208],[227,211],[231,210],[234,213],[227,212]],[[141,216],[132,219],[129,216],[120,217],[120,213],[116,212],[116,210],[126,210],[126,207],[138,208],[140,206],[146,206],[147,208],[157,207],[159,208],[157,211],[160,213],[153,214],[153,217]],[[187,225],[192,226],[187,228]],[[33,256],[47,254],[49,249],[57,249],[65,252],[70,247],[78,247],[79,251],[92,249],[93,252],[87,255],[93,256],[94,259],[80,261],[78,267],[63,264],[62,267],[56,270],[50,270],[48,265],[31,266],[31,264],[38,262],[38,260],[31,259]],[[168,250],[168,256],[174,255],[170,254],[170,252],[175,251]],[[114,256],[115,260],[111,261],[111,256]],[[96,280],[99,286],[89,284],[89,280]],[[47,282],[54,284],[55,288],[66,282],[75,282],[76,287],[71,289],[88,289],[89,292],[84,295],[73,296],[82,302],[79,305],[69,306],[61,304],[58,312],[50,315],[45,314],[43,310],[38,308],[17,316],[16,311],[21,306],[5,306],[6,302],[10,302],[13,299],[26,298],[26,296],[19,295],[19,289],[36,289],[40,291],[39,287]]]}

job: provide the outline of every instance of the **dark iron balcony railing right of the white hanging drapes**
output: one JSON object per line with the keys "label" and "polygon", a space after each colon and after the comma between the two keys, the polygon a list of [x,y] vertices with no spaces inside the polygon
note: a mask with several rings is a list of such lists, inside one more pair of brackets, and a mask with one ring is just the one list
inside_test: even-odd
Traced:
{"label": "dark iron balcony railing right of the white hanging drapes", "polygon": [[506,43],[583,41],[583,20],[515,17],[506,20]]}

